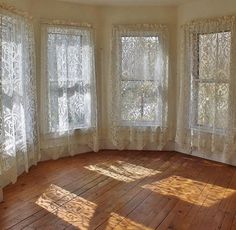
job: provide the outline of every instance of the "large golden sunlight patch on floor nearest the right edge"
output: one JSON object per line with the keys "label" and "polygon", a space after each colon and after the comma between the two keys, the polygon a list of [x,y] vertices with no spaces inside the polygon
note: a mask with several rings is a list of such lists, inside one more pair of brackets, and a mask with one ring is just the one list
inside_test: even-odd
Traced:
{"label": "large golden sunlight patch on floor nearest the right edge", "polygon": [[[150,189],[161,195],[174,196],[182,201],[205,207],[210,207],[236,193],[234,189],[226,189],[221,186],[191,180],[181,176],[171,176],[151,184],[143,185],[142,188]],[[207,193],[204,193],[204,189]]]}

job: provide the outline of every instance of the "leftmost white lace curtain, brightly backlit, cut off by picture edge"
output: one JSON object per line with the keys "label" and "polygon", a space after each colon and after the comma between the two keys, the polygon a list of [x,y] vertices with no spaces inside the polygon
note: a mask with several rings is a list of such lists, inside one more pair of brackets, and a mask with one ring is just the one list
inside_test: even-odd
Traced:
{"label": "leftmost white lace curtain, brightly backlit, cut off by picture edge", "polygon": [[0,10],[0,186],[39,160],[33,27]]}

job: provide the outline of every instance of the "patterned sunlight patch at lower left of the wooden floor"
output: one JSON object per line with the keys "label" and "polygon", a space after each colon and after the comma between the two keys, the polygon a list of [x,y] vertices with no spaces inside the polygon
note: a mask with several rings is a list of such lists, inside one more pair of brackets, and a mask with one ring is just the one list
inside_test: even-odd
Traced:
{"label": "patterned sunlight patch at lower left of the wooden floor", "polygon": [[96,204],[56,185],[51,185],[36,204],[79,229],[89,228],[97,208]]}

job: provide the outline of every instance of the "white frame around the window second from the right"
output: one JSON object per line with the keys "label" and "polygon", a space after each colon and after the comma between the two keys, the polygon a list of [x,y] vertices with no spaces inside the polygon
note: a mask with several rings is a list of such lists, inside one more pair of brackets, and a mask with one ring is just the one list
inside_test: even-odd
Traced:
{"label": "white frame around the window second from the right", "polygon": [[[156,27],[158,27],[157,25],[155,25]],[[116,30],[117,27],[120,27],[120,28],[125,28],[124,29],[124,32],[121,32],[119,37],[116,37],[114,38],[113,37],[113,55],[116,56],[116,60],[118,62],[117,66],[120,66],[120,70],[122,72],[122,61],[121,61],[121,57],[119,56],[119,54],[122,53],[122,45],[121,45],[121,41],[122,41],[122,38],[123,37],[155,37],[155,38],[158,38],[159,39],[159,43],[160,43],[160,50],[161,50],[161,53],[164,57],[165,60],[163,60],[163,63],[164,63],[164,70],[163,70],[163,74],[165,74],[165,77],[164,77],[164,81],[165,81],[165,86],[168,85],[168,38],[167,38],[167,31],[166,31],[166,27],[163,26],[162,28],[162,25],[160,26],[160,28],[156,29],[155,26],[152,26],[152,24],[144,24],[144,25],[118,25],[118,26],[114,26],[113,30]],[[121,29],[121,31],[122,31]],[[163,30],[162,30],[163,29]],[[126,30],[126,31],[125,31]],[[114,35],[113,35],[114,36]],[[114,40],[116,40],[116,45],[114,45]],[[116,64],[114,63],[114,59],[113,59],[113,68]],[[118,85],[118,90],[119,92],[121,92],[121,82],[122,81],[130,81],[130,80],[124,80],[122,79],[122,74],[121,72],[117,71],[116,67],[115,69],[113,69],[113,75],[115,73],[115,77],[116,77],[116,86]],[[134,80],[135,82],[138,82],[138,81],[143,81],[145,82],[145,79],[141,79],[141,80]],[[147,80],[149,81],[149,80]],[[155,82],[153,80],[153,82]],[[159,87],[159,85],[157,85],[157,87]],[[166,90],[166,89],[165,89]],[[117,92],[116,92],[117,93]],[[165,91],[165,93],[167,93],[167,91]],[[114,95],[113,95],[114,96]],[[165,97],[167,98],[167,95],[161,95],[162,97]],[[124,120],[122,118],[122,114],[121,114],[121,95],[118,95],[117,98],[117,103],[119,104],[119,111],[118,112],[118,115],[117,118],[118,118],[118,125],[119,126],[123,126],[123,127],[164,127],[165,126],[165,122],[162,120],[162,119],[158,119],[158,115],[159,114],[163,114],[163,108],[161,109],[161,111],[158,111],[156,113],[156,117],[155,117],[155,120],[153,119],[153,121],[140,121],[140,120]],[[162,103],[163,103],[163,100],[161,99]],[[165,105],[165,103],[162,104],[162,107],[164,107],[164,110],[167,110],[167,107]],[[141,109],[141,107],[140,107]],[[167,112],[167,111],[166,111]],[[113,108],[113,114],[115,113],[114,111],[114,108]],[[165,113],[165,112],[164,112]],[[113,118],[112,118],[113,119]]]}

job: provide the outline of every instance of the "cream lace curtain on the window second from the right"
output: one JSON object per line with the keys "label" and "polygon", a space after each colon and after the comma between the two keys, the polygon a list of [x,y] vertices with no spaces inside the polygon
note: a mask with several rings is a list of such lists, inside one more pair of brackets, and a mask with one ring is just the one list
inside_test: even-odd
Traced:
{"label": "cream lace curtain on the window second from the right", "polygon": [[113,27],[110,137],[119,149],[168,142],[167,44],[164,25]]}

